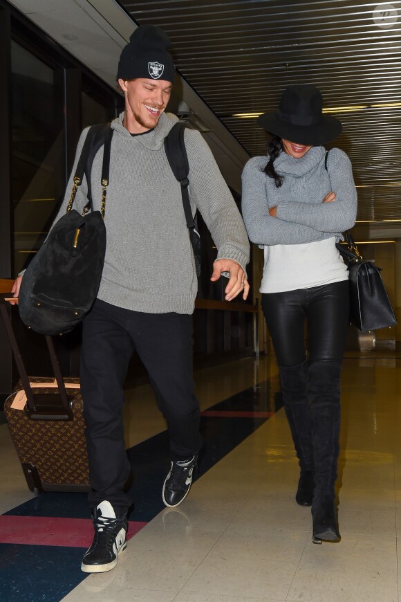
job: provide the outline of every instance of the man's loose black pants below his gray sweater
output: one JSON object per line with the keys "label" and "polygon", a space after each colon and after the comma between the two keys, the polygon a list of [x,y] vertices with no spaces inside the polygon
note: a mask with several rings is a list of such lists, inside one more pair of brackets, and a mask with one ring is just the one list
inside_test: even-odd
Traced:
{"label": "man's loose black pants below his gray sweater", "polygon": [[89,504],[103,500],[118,509],[130,465],[124,445],[123,385],[133,352],[149,374],[167,421],[172,459],[198,453],[199,403],[192,380],[192,316],[142,313],[97,300],[84,319],[81,389],[92,491]]}

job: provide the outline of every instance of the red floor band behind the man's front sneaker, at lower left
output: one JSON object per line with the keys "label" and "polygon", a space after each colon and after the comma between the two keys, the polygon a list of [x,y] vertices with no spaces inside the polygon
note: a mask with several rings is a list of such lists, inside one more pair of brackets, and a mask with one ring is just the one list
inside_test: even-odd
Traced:
{"label": "red floor band behind the man's front sneaker, at lower left", "polygon": [[[146,522],[129,521],[127,539]],[[49,518],[47,516],[0,516],[0,543],[84,547],[93,540],[90,518]]]}

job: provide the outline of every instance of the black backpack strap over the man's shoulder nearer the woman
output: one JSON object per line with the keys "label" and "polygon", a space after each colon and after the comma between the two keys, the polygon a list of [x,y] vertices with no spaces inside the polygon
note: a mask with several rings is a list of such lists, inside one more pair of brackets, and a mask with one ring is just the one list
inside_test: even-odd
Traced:
{"label": "black backpack strap over the man's shoulder nearer the woman", "polygon": [[189,202],[189,163],[187,149],[185,149],[184,131],[185,125],[183,123],[178,122],[174,124],[165,138],[165,151],[171,171],[181,185],[187,228],[196,228],[194,217],[192,216],[191,203]]}

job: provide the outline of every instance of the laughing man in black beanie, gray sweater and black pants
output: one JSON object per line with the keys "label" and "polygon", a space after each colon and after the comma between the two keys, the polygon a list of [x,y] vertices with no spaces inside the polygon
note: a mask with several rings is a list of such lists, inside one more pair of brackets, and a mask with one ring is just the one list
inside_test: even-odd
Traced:
{"label": "laughing man in black beanie, gray sweater and black pants", "polygon": [[[122,51],[118,83],[125,110],[111,127],[110,181],[104,223],[106,258],[97,300],[84,319],[81,390],[90,466],[95,538],[82,560],[84,572],[104,572],[127,547],[124,491],[130,474],[122,423],[123,384],[138,352],[169,429],[171,469],[162,489],[169,507],[184,500],[201,448],[199,404],[192,381],[192,313],[197,290],[194,255],[180,183],[167,160],[164,140],[177,121],[165,109],[175,68],[169,39],[154,26],[138,28]],[[77,147],[80,156],[88,129]],[[200,210],[218,258],[212,281],[230,273],[225,299],[249,291],[245,265],[248,237],[230,191],[198,131],[185,131],[189,194]],[[95,209],[100,208],[102,149],[92,166]],[[68,184],[69,191],[72,178]],[[86,205],[86,181],[74,207]],[[66,211],[69,194],[56,218]],[[21,277],[15,283],[15,296]]]}

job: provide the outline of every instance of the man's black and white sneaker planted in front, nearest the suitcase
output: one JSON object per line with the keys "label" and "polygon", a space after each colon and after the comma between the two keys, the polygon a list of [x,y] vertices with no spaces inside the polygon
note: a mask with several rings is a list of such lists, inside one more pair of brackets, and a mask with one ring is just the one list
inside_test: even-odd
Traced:
{"label": "man's black and white sneaker planted in front, nearest the suitcase", "polygon": [[95,537],[82,558],[84,573],[104,573],[117,564],[119,554],[127,547],[127,515],[117,518],[113,506],[104,500],[93,513]]}

